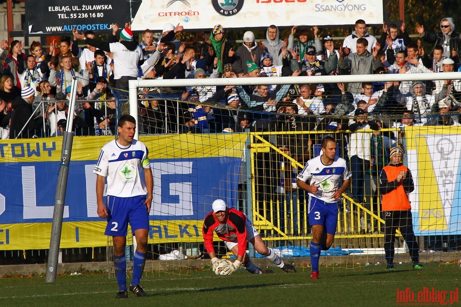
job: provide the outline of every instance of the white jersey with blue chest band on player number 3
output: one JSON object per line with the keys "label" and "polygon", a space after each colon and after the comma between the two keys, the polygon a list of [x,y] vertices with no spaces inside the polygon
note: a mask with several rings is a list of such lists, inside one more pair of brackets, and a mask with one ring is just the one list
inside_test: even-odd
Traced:
{"label": "white jersey with blue chest band on player number 3", "polygon": [[317,194],[309,192],[310,196],[319,198],[325,202],[337,202],[338,199],[332,198],[334,191],[340,188],[341,179],[347,180],[352,174],[347,168],[346,160],[340,157],[334,157],[333,163],[324,165],[321,156],[317,156],[307,161],[304,169],[299,173],[298,179],[306,182],[316,182],[319,187]]}

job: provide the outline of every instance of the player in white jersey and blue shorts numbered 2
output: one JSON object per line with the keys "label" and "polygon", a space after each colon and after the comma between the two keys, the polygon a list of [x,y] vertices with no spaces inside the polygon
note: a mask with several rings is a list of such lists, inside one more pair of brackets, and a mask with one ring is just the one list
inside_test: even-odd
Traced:
{"label": "player in white jersey and blue shorts numbered 2", "polygon": [[[128,298],[125,260],[128,223],[137,243],[130,291],[140,297],[148,296],[139,283],[147,253],[153,177],[148,149],[133,139],[135,130],[134,117],[122,115],[118,119],[119,137],[102,147],[93,171],[97,174],[98,216],[107,219],[105,234],[113,237],[115,277],[119,286],[116,298]],[[107,206],[102,197],[106,176]]]}

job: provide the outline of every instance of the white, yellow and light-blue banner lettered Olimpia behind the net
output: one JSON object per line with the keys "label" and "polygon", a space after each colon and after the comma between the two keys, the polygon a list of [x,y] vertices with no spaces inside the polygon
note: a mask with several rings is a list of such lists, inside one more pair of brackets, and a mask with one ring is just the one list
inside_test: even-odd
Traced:
{"label": "white, yellow and light-blue banner lettered Olimpia behind the net", "polygon": [[461,234],[460,127],[410,127],[405,138],[415,234]]}

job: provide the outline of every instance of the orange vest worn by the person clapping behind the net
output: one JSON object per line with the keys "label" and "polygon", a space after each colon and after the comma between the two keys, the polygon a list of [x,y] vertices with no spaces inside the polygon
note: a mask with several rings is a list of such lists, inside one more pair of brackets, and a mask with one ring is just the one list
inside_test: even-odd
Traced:
{"label": "orange vest worn by the person clapping behind the net", "polygon": [[[387,165],[383,168],[386,172],[387,181],[394,181],[400,172],[404,171],[407,173],[408,168],[406,166],[390,166]],[[402,185],[402,180],[397,185],[396,189],[392,190],[387,194],[383,194],[383,199],[381,201],[382,211],[393,211],[393,210],[410,210],[410,200],[408,199],[407,192],[404,190]]]}

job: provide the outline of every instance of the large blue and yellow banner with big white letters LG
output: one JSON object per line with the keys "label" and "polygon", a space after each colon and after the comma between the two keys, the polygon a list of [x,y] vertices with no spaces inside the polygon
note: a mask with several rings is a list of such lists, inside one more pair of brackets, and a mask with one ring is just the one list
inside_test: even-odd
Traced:
{"label": "large blue and yellow banner with big white letters LG", "polygon": [[[93,169],[102,145],[111,139],[74,138],[62,248],[106,245],[106,222],[96,213]],[[236,206],[246,135],[140,140],[149,148],[154,177],[150,243],[200,241],[213,200],[222,198],[229,207]],[[0,186],[0,250],[49,248],[61,142],[61,137],[0,141],[0,170],[5,174]]]}

